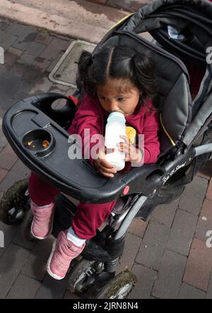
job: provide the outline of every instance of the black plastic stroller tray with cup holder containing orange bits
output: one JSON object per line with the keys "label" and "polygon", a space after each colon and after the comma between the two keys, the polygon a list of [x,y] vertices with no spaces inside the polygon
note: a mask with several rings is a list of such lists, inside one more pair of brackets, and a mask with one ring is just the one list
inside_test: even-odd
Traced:
{"label": "black plastic stroller tray with cup holder containing orange bits", "polygon": [[[52,102],[66,98],[57,93],[37,95],[17,102],[5,114],[3,131],[23,163],[49,184],[81,201],[104,203],[129,194],[149,192],[151,182],[145,178],[160,169],[159,165],[132,168],[108,179],[99,175],[88,160],[70,159],[70,134],[51,117]],[[75,105],[69,103],[73,119]],[[54,112],[55,113],[55,112]],[[67,115],[67,114],[66,114]],[[144,180],[143,180],[144,179]],[[127,189],[126,189],[127,187]],[[143,191],[144,192],[144,191]]]}

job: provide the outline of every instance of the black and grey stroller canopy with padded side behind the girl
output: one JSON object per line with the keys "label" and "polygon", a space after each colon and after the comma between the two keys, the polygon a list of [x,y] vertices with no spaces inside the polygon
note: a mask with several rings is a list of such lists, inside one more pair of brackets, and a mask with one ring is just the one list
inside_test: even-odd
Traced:
{"label": "black and grey stroller canopy with padded side behind the girl", "polygon": [[[170,37],[170,26],[184,39]],[[161,122],[173,146],[179,142],[191,146],[211,122],[211,30],[212,4],[207,0],[158,0],[116,25],[94,51],[98,52],[102,45],[144,45],[151,49],[158,66]],[[143,38],[146,32],[155,41]],[[206,67],[194,102],[184,65],[187,62]]]}

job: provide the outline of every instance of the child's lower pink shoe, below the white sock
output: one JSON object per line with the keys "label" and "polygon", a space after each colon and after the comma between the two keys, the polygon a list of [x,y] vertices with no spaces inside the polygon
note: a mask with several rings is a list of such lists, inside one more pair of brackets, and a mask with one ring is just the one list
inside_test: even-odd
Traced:
{"label": "child's lower pink shoe, below the white sock", "polygon": [[77,247],[67,239],[66,232],[59,232],[47,262],[49,275],[57,280],[63,279],[67,271],[69,271],[71,261],[81,254],[85,246],[86,244],[83,244],[82,247]]}

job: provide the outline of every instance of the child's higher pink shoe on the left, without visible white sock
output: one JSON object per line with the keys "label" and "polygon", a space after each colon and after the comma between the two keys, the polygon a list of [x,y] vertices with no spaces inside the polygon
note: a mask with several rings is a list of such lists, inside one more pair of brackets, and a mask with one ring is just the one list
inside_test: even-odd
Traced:
{"label": "child's higher pink shoe on the left, without visible white sock", "polygon": [[31,210],[33,211],[33,223],[31,233],[33,237],[44,240],[51,235],[54,219],[55,202],[47,206],[36,206],[31,201]]}

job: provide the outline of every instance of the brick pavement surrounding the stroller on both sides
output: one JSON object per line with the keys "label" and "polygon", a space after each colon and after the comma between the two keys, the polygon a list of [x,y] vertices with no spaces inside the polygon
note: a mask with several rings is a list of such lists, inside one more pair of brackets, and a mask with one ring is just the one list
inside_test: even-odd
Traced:
{"label": "brick pavement surrounding the stroller on both sides", "polygon": [[[0,121],[13,102],[47,91],[73,90],[48,80],[48,74],[70,45],[71,38],[0,20],[0,42],[6,63],[0,72]],[[0,198],[13,182],[28,177],[4,135],[0,136]],[[129,298],[212,298],[211,163],[187,186],[180,199],[159,206],[145,223],[134,220],[118,271],[132,269],[138,283]],[[53,238],[30,243],[19,226],[0,223],[5,247],[0,248],[0,298],[76,298],[66,279],[50,278],[45,264]]]}

